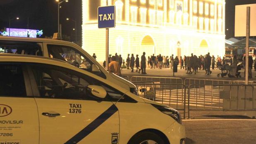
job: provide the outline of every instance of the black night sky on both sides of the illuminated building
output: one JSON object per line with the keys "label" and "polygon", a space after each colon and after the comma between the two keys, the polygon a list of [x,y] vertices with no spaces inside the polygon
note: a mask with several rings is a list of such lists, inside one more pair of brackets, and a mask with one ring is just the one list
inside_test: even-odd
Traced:
{"label": "black night sky on both sides of the illuminated building", "polygon": [[[60,0],[61,1],[61,0]],[[235,5],[252,4],[256,0],[226,0],[226,38],[234,37]],[[11,22],[11,28],[29,28],[43,30],[44,36],[51,36],[58,31],[58,4],[56,0],[0,0],[0,29],[8,27],[8,19],[19,17]],[[66,21],[69,17],[77,21],[77,39],[82,35],[82,0],[63,2],[60,8],[60,24],[63,35],[75,38],[75,23]]]}

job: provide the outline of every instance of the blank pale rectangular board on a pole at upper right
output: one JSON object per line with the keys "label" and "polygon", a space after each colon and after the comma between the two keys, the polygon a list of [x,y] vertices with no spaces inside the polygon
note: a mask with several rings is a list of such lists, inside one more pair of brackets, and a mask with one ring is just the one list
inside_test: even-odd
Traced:
{"label": "blank pale rectangular board on a pole at upper right", "polygon": [[246,7],[251,7],[250,36],[256,36],[256,4],[236,5],[235,37],[246,36]]}

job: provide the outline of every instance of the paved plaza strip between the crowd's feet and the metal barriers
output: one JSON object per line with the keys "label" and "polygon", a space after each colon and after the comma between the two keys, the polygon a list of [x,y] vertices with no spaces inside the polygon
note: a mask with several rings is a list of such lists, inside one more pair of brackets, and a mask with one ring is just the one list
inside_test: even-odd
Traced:
{"label": "paved plaza strip between the crowd's feet and the metal barriers", "polygon": [[[136,68],[134,68],[134,72],[132,73],[130,69],[122,69],[121,73],[123,76],[159,76],[159,77],[178,77],[178,78],[204,78],[204,79],[220,79],[220,80],[244,80],[244,70],[241,70],[242,78],[229,78],[228,76],[225,76],[224,78],[217,77],[218,73],[221,73],[219,69],[211,70],[213,73],[211,75],[205,75],[204,70],[198,70],[198,73],[196,75],[193,74],[186,74],[186,71],[183,69],[178,69],[178,72],[174,74],[172,69],[170,68],[162,68],[162,69],[150,69],[146,68],[147,74],[141,74],[138,72],[135,72]],[[253,71],[253,78],[249,80],[256,80],[256,72]]]}

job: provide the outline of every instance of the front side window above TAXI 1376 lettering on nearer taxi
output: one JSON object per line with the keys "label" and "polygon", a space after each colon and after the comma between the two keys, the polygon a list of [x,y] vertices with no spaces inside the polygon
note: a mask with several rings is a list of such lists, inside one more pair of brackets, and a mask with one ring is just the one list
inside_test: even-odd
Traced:
{"label": "front side window above TAXI 1376 lettering on nearer taxi", "polygon": [[85,94],[87,80],[51,67],[33,66],[41,97],[57,99],[91,99]]}

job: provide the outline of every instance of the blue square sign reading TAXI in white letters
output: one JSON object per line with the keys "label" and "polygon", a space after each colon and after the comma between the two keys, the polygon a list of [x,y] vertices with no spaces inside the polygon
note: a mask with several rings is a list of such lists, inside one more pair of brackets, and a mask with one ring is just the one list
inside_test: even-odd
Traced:
{"label": "blue square sign reading TAXI in white letters", "polygon": [[115,6],[98,7],[98,28],[114,28],[115,26]]}

